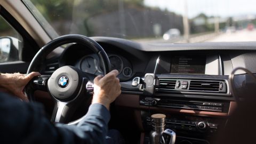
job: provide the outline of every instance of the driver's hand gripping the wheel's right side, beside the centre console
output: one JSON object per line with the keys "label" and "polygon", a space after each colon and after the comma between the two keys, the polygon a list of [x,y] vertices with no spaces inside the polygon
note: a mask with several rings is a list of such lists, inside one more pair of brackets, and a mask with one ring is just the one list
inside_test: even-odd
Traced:
{"label": "driver's hand gripping the wheel's right side, beside the centre console", "polygon": [[101,103],[109,109],[110,103],[121,94],[121,85],[117,70],[112,70],[107,75],[94,78],[94,95],[92,103]]}

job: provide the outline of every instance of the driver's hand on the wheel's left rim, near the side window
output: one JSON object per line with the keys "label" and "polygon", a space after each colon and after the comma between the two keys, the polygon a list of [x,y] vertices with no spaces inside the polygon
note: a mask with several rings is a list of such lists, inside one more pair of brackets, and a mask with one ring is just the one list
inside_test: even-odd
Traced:
{"label": "driver's hand on the wheel's left rim, near the side window", "polygon": [[14,73],[14,74],[1,74],[0,86],[4,87],[7,91],[14,94],[18,98],[28,101],[24,93],[24,88],[28,82],[35,76],[40,76],[38,72],[32,72],[28,75]]}

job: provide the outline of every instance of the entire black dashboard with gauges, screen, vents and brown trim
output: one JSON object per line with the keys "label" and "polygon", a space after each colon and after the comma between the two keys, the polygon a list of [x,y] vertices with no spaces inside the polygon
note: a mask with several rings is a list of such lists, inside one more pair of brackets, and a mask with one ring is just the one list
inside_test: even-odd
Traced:
{"label": "entire black dashboard with gauges, screen, vents and brown trim", "polygon": [[[177,143],[211,143],[236,107],[228,75],[236,67],[256,73],[253,42],[141,44],[111,37],[92,38],[108,54],[111,69],[119,71],[122,85],[110,127],[136,130],[142,143],[149,141],[150,116],[156,113],[166,115],[166,128],[177,132]],[[78,44],[67,46],[59,57],[48,60],[43,74],[65,65],[102,75],[97,55]],[[250,84],[243,71],[237,71],[236,77],[237,90]],[[119,121],[125,125],[118,125]]]}

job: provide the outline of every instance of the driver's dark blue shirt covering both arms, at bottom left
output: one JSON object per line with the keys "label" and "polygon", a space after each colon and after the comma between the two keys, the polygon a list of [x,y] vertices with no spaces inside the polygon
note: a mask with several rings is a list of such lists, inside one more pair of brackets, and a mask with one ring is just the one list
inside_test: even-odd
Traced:
{"label": "driver's dark blue shirt covering both arms, at bottom left", "polygon": [[0,143],[105,143],[109,119],[95,103],[77,126],[54,125],[41,105],[0,93]]}

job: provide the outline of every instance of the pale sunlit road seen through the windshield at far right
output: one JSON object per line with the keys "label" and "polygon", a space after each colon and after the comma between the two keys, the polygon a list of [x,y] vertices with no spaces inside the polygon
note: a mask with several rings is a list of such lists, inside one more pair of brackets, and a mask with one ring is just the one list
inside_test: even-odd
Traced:
{"label": "pale sunlit road seen through the windshield at far right", "polygon": [[223,33],[206,42],[249,42],[256,41],[256,30],[237,30],[235,33]]}

